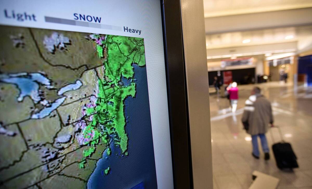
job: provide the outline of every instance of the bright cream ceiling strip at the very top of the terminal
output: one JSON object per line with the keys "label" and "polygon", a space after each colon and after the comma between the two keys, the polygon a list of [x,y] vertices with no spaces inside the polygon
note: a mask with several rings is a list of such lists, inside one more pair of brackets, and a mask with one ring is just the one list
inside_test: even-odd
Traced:
{"label": "bright cream ceiling strip at the very top of the terminal", "polygon": [[205,17],[312,7],[312,0],[204,0]]}

